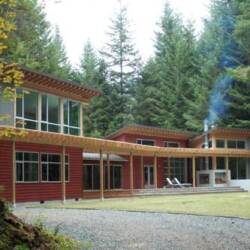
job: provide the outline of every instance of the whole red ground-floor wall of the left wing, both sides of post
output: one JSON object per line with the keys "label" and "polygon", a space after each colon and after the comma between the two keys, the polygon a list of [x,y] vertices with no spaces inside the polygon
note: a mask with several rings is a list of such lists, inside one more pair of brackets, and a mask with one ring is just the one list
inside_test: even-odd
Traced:
{"label": "whole red ground-floor wall of the left wing, both sides of post", "polygon": [[[29,151],[38,153],[61,153],[57,146],[16,143],[16,151]],[[69,182],[66,183],[66,198],[82,197],[82,150],[66,148],[69,155]],[[0,185],[5,191],[4,198],[12,199],[12,144],[9,141],[0,142]],[[50,183],[16,183],[16,201],[46,201],[62,199],[61,182]]]}

